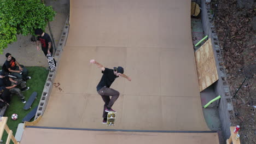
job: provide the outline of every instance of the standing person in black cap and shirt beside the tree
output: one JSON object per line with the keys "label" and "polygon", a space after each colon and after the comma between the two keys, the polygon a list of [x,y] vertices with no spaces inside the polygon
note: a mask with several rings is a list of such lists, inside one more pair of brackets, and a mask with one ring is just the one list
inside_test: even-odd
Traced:
{"label": "standing person in black cap and shirt beside the tree", "polygon": [[[39,51],[39,43],[41,43],[41,49],[44,52],[44,55],[51,53],[53,55],[53,42],[51,41],[51,37],[48,33],[43,32],[42,29],[36,29],[34,30],[34,34],[36,34],[37,37],[37,50]],[[54,64],[56,66],[56,61],[54,59]]]}

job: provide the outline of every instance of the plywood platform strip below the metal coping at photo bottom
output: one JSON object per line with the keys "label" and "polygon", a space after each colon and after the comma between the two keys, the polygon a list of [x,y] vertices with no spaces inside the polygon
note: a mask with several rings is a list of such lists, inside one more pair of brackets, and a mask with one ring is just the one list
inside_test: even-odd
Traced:
{"label": "plywood platform strip below the metal coping at photo bottom", "polygon": [[[43,138],[43,139],[42,139]],[[171,143],[217,144],[217,133],[143,133],[26,128],[21,144],[44,143]]]}

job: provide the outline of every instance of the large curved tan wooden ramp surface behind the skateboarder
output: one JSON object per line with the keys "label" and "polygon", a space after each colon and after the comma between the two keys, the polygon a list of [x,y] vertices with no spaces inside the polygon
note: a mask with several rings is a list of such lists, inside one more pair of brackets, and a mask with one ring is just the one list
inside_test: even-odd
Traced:
{"label": "large curved tan wooden ramp surface behind the skateboarder", "polygon": [[[115,127],[102,124],[101,70],[118,78]],[[48,105],[37,126],[209,130],[202,114],[190,31],[190,1],[71,1],[70,29]],[[111,134],[110,134],[111,135]]]}

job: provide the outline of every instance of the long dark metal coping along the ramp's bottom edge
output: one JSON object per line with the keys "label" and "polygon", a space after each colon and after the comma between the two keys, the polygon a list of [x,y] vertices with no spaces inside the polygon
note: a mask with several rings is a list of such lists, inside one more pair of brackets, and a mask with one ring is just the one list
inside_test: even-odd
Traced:
{"label": "long dark metal coping along the ramp's bottom edge", "polygon": [[62,130],[92,130],[92,131],[125,131],[125,132],[146,132],[146,133],[217,133],[217,131],[86,129],[86,128],[37,127],[37,126],[26,126],[26,128],[62,129]]}

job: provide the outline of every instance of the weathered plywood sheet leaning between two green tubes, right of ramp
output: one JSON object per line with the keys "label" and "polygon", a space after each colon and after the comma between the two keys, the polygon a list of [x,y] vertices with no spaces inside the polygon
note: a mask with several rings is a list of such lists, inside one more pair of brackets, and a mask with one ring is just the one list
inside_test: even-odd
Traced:
{"label": "weathered plywood sheet leaning between two green tubes, right of ramp", "polygon": [[219,77],[212,49],[211,39],[208,39],[196,52],[196,68],[200,92],[211,86]]}

